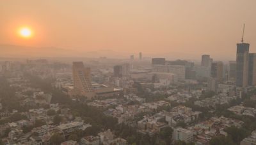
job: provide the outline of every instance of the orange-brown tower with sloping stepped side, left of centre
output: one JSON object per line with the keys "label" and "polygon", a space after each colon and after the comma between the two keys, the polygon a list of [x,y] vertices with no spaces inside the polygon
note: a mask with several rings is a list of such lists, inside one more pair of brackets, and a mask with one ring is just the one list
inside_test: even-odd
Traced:
{"label": "orange-brown tower with sloping stepped side, left of centre", "polygon": [[[93,92],[90,68],[85,68],[83,62],[73,62],[72,69],[76,92],[80,95],[88,95],[90,92]],[[91,94],[90,97],[92,97]]]}

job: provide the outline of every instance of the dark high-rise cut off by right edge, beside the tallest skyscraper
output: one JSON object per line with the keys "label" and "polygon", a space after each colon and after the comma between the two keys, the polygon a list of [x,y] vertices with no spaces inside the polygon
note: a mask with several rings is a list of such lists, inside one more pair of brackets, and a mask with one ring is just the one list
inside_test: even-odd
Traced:
{"label": "dark high-rise cut off by right edge, beside the tallest skyscraper", "polygon": [[256,53],[249,53],[248,60],[248,85],[256,85]]}

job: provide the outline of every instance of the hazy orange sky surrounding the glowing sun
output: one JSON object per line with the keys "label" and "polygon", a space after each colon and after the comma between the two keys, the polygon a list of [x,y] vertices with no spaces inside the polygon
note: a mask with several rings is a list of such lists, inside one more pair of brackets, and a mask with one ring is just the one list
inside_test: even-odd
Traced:
{"label": "hazy orange sky surrounding the glowing sun", "polygon": [[[256,0],[0,0],[0,43],[144,57],[235,59],[256,52]],[[28,25],[32,39],[17,37]],[[1,53],[0,53],[1,55]]]}

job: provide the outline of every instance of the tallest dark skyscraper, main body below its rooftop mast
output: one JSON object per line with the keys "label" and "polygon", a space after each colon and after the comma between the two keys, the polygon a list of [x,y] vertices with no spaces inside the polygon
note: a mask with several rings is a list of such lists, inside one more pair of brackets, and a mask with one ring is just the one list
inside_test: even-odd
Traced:
{"label": "tallest dark skyscraper, main body below its rooftop mast", "polygon": [[248,85],[249,43],[238,43],[236,50],[236,86]]}

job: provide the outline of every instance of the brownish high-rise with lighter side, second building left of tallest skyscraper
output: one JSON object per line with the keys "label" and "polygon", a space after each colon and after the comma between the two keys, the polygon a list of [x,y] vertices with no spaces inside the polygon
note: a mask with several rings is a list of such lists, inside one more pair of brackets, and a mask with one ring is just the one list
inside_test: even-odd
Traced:
{"label": "brownish high-rise with lighter side, second building left of tallest skyscraper", "polygon": [[221,83],[223,81],[223,63],[222,62],[212,62],[211,77],[216,78],[218,83]]}

